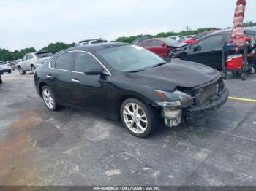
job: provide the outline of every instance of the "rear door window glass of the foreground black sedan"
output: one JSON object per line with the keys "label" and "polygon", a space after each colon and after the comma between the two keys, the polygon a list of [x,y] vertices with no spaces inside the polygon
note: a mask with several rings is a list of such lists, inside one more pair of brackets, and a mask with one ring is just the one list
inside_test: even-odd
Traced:
{"label": "rear door window glass of the foreground black sedan", "polygon": [[55,68],[71,71],[72,55],[72,52],[67,52],[62,55],[59,55],[56,58]]}

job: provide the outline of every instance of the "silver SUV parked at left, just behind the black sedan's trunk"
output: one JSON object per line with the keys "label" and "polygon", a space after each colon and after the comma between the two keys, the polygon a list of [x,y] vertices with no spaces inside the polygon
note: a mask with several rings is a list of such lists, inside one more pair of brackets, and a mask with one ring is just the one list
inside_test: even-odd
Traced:
{"label": "silver SUV parked at left, just behind the black sedan's trunk", "polygon": [[47,61],[53,54],[51,52],[33,52],[26,54],[22,61],[18,63],[20,75],[26,74],[26,71],[34,71]]}

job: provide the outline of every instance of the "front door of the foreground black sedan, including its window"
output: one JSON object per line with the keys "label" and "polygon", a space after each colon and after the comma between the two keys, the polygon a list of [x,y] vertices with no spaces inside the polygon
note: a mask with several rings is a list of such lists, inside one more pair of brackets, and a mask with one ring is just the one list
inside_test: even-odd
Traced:
{"label": "front door of the foreground black sedan, including its window", "polygon": [[96,112],[108,113],[110,110],[109,76],[86,75],[84,71],[101,67],[100,63],[87,52],[75,52],[73,72],[71,74],[71,101],[76,106],[82,106]]}

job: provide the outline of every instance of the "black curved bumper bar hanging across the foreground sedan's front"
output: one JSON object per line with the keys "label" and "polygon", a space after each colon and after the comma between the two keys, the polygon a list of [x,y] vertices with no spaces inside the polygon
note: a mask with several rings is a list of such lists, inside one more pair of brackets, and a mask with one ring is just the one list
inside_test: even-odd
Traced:
{"label": "black curved bumper bar hanging across the foreground sedan's front", "polygon": [[228,95],[229,91],[225,88],[217,100],[211,102],[211,104],[205,106],[192,106],[189,109],[184,109],[186,120],[188,122],[195,122],[196,117],[203,117],[209,112],[214,112],[227,102]]}

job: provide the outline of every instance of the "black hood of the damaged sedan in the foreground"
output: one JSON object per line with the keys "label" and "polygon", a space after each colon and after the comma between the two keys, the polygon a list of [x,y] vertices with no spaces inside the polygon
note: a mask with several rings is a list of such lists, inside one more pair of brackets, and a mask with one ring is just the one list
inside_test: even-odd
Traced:
{"label": "black hood of the damaged sedan in the foreground", "polygon": [[197,87],[220,77],[219,71],[200,63],[173,59],[171,63],[136,73],[127,77],[140,79],[145,85],[162,90],[174,90],[176,87]]}

